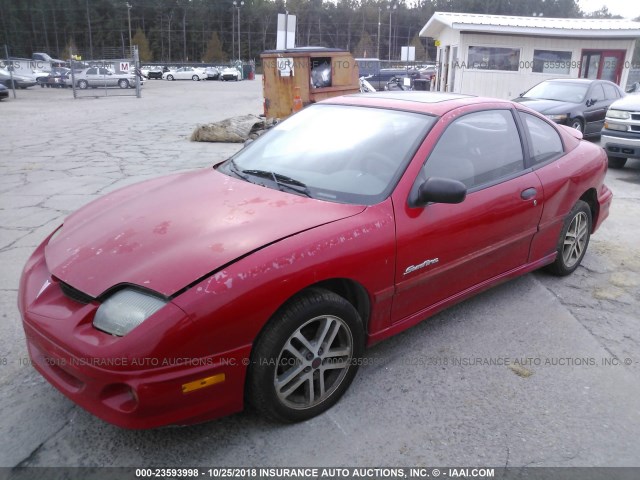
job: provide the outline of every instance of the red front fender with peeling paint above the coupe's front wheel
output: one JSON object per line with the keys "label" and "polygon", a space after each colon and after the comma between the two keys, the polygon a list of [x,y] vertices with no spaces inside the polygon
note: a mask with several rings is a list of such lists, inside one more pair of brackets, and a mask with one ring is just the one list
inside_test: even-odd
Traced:
{"label": "red front fender with peeling paint above the coupe's front wheel", "polygon": [[389,320],[394,271],[395,220],[387,199],[353,217],[269,245],[177,296],[173,303],[187,313],[193,332],[181,349],[197,357],[251,344],[289,298],[336,278],[364,287],[371,304],[369,328],[383,328]]}

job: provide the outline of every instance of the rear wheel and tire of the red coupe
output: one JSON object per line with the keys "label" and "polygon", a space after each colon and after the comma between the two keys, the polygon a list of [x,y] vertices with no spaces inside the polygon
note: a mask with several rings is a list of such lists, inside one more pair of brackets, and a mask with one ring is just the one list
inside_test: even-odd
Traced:
{"label": "rear wheel and tire of the red coupe", "polygon": [[578,200],[564,221],[558,239],[556,260],[547,267],[554,275],[564,277],[574,272],[589,246],[591,238],[591,209],[586,202]]}

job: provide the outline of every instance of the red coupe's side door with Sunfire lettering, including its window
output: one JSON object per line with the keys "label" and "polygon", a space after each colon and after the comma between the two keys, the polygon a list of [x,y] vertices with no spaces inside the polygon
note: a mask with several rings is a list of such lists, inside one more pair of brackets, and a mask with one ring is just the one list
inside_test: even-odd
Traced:
{"label": "red coupe's side door with Sunfire lettering, including its window", "polygon": [[[459,204],[416,208],[394,198],[393,322],[424,315],[526,264],[542,212],[541,183],[525,168],[510,108],[454,111],[442,120],[448,125],[413,188],[429,177],[444,177],[463,182],[468,193]],[[436,130],[429,136],[439,135]]]}

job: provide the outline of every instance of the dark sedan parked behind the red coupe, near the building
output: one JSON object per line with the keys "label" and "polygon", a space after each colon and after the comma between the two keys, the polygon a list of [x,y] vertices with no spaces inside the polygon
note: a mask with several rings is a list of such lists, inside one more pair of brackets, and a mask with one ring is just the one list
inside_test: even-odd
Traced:
{"label": "dark sedan parked behind the red coupe, near the building", "polygon": [[540,82],[514,101],[589,137],[600,135],[607,109],[624,95],[618,85],[607,80],[563,78]]}

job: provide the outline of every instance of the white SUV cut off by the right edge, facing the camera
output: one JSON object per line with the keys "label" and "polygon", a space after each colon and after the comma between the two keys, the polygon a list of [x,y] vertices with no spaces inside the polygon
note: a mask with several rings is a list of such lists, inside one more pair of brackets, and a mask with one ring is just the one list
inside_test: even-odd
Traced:
{"label": "white SUV cut off by the right edge, facing the camera", "polygon": [[609,167],[622,168],[627,158],[640,158],[640,94],[627,95],[611,104],[600,138]]}

